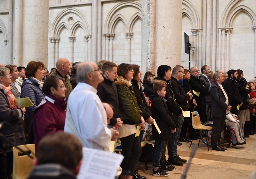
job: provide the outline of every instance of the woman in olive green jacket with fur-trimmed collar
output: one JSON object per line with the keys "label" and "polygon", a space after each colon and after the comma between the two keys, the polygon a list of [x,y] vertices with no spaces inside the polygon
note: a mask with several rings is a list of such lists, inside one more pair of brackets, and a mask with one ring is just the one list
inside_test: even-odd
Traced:
{"label": "woman in olive green jacket with fur-trimmed collar", "polygon": [[132,65],[121,63],[118,66],[118,77],[115,82],[120,111],[123,116],[123,125],[119,128],[119,138],[122,143],[122,154],[124,155],[121,167],[123,170],[131,171],[130,175],[122,175],[122,179],[132,179],[132,175],[142,152],[140,137],[135,137],[136,125],[141,126],[140,131],[144,130],[145,127],[142,111],[138,107],[137,97],[131,83],[133,74]]}

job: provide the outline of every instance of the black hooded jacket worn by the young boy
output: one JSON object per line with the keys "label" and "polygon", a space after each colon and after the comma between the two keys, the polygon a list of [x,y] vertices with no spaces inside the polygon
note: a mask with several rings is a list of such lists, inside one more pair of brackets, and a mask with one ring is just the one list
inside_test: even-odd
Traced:
{"label": "black hooded jacket worn by the young boy", "polygon": [[166,140],[171,138],[171,128],[175,129],[176,125],[169,116],[169,110],[166,100],[158,94],[152,95],[152,117],[156,120],[161,133],[156,130],[155,125],[152,125],[151,140]]}

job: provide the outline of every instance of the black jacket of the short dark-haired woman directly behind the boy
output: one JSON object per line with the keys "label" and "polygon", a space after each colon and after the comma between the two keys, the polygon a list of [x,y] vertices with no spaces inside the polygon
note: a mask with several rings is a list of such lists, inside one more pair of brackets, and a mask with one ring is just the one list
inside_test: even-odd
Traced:
{"label": "black jacket of the short dark-haired woman directly behind the boy", "polygon": [[178,116],[182,113],[182,111],[180,109],[180,104],[178,104],[175,99],[170,80],[165,80],[163,77],[156,77],[155,80],[162,80],[166,83],[166,94],[164,99],[167,100],[166,104],[169,110],[169,116],[172,118],[172,121],[175,123],[176,127],[179,127]]}

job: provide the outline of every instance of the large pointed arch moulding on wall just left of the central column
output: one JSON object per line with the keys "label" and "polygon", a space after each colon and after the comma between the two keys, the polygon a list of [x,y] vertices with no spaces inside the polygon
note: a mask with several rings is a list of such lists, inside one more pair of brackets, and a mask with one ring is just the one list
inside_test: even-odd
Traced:
{"label": "large pointed arch moulding on wall just left of the central column", "polygon": [[[133,1],[126,1],[126,2],[122,2],[117,4],[113,9],[111,9],[111,11],[108,13],[108,16],[106,18],[105,24],[104,24],[104,33],[109,33],[112,32],[112,30],[114,29],[111,24],[111,22],[113,22],[113,19],[116,19],[115,13],[116,11],[118,11],[119,9],[121,9],[124,6],[132,6],[134,8],[137,8],[140,12],[142,11],[142,7],[141,4],[137,3],[137,2],[133,2]],[[124,20],[124,19],[123,19]],[[114,21],[116,22],[116,21]],[[129,30],[128,28],[128,23],[125,24],[127,27],[126,29]]]}

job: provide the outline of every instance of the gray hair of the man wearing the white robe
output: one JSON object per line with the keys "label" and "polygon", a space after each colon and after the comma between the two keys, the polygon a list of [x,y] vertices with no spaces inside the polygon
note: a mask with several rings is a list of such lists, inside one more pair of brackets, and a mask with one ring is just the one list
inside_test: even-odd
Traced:
{"label": "gray hair of the man wearing the white robe", "polygon": [[92,74],[94,73],[94,68],[92,66],[92,61],[86,61],[83,63],[80,63],[77,67],[77,71],[76,71],[76,82],[85,82],[88,81],[87,78],[87,73],[92,72]]}

